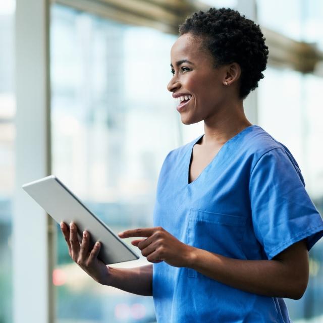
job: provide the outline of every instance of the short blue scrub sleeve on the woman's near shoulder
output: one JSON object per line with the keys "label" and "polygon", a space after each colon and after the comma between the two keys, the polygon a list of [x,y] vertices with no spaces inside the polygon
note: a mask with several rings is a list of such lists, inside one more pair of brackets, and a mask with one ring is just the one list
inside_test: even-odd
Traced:
{"label": "short blue scrub sleeve on the woman's near shoulder", "polygon": [[252,224],[268,259],[304,238],[310,250],[323,236],[323,221],[293,160],[284,148],[274,148],[251,171]]}

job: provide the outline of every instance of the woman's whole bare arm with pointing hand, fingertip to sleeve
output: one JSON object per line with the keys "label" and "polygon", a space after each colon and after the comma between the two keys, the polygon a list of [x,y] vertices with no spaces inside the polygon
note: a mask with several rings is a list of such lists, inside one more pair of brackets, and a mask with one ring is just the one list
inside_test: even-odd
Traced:
{"label": "woman's whole bare arm with pointing hand, fingertip to sleeve", "polygon": [[309,264],[305,240],[291,245],[272,260],[243,260],[186,245],[160,227],[128,230],[119,236],[147,237],[132,244],[150,262],[165,261],[177,267],[190,267],[246,292],[299,299],[307,287]]}

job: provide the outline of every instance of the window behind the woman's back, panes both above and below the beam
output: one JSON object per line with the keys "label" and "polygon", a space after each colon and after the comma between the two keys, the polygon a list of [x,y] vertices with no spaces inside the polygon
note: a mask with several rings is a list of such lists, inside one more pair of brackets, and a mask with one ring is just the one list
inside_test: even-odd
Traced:
{"label": "window behind the woman's back, panes both above and below the beam", "polygon": [[[321,47],[321,2],[258,0],[257,5],[260,26],[296,40],[318,41],[317,45]],[[270,18],[274,15],[278,19]],[[264,76],[257,89],[258,124],[291,150],[304,176],[306,190],[323,214],[323,155],[320,148],[323,140],[323,94],[320,90],[323,78],[272,67],[267,67]],[[323,301],[322,251],[323,241],[320,240],[309,252],[310,279],[304,296],[300,300],[285,299],[293,322],[322,320],[323,309],[319,306]]]}

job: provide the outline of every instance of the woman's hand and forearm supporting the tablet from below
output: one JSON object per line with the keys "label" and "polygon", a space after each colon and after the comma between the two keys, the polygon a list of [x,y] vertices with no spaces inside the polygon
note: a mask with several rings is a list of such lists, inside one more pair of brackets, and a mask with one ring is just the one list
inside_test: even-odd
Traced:
{"label": "woman's hand and forearm supporting the tablet from below", "polygon": [[75,224],[72,223],[68,227],[62,222],[61,230],[71,258],[96,282],[138,295],[152,295],[151,264],[129,269],[107,266],[97,258],[100,251],[99,243],[95,244],[92,250],[89,249],[90,235],[88,232],[83,232],[80,243]]}

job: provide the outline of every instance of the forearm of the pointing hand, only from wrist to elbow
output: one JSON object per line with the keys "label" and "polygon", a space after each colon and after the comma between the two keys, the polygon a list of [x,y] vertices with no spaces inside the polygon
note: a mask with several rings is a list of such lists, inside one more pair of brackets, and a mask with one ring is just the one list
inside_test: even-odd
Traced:
{"label": "forearm of the pointing hand, only from wrist to elbow", "polygon": [[218,282],[246,292],[299,299],[296,271],[280,260],[243,260],[193,248],[191,268]]}

